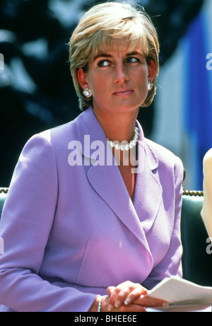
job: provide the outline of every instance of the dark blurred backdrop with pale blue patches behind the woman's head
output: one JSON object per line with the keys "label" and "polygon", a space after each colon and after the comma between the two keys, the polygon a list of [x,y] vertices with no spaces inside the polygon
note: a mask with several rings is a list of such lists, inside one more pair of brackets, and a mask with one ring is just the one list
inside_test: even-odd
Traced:
{"label": "dark blurred backdrop with pale blue patches behind the woman's head", "polygon": [[[79,113],[68,62],[71,32],[94,0],[0,0],[0,185],[8,186],[25,142]],[[158,29],[160,64],[169,59],[204,0],[131,1],[145,4]],[[151,135],[154,107],[139,120]]]}

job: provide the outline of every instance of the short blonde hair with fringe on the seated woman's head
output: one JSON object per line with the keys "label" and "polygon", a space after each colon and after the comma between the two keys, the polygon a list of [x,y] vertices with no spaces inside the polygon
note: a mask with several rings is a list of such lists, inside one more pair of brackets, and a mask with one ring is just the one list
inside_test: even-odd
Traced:
{"label": "short blonde hair with fringe on the seated woman's head", "polygon": [[[117,42],[119,40],[119,42]],[[99,50],[124,50],[126,42],[129,51],[139,47],[146,56],[147,64],[152,59],[155,63],[155,78],[153,87],[148,91],[142,106],[151,104],[156,91],[156,79],[159,73],[158,35],[151,18],[143,8],[131,4],[106,2],[90,8],[79,21],[69,42],[69,61],[71,75],[81,110],[86,110],[92,104],[92,98],[83,95],[83,89],[78,83],[78,69],[88,69],[88,62]]]}

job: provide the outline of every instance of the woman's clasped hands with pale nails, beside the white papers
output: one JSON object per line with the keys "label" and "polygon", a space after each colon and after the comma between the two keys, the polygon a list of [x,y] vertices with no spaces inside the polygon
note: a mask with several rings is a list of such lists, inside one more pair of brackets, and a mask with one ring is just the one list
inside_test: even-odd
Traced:
{"label": "woman's clasped hands with pale nails, beside the white papers", "polygon": [[166,301],[146,297],[148,290],[141,284],[126,281],[118,286],[107,289],[109,297],[102,299],[101,311],[139,312],[146,311],[146,307],[167,305]]}

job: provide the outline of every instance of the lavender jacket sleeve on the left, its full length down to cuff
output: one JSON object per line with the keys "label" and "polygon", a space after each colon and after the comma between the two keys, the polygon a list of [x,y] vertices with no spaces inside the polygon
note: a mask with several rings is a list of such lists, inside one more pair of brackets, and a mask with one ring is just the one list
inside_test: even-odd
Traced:
{"label": "lavender jacket sleeve on the left, its full length down to cuff", "polygon": [[0,310],[88,311],[95,294],[50,284],[39,276],[57,208],[57,160],[50,136],[25,145],[1,216]]}

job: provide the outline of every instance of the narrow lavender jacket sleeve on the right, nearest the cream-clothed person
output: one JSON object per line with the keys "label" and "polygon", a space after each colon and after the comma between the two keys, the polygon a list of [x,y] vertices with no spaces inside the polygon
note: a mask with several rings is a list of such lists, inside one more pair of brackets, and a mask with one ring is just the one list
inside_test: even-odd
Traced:
{"label": "narrow lavender jacket sleeve on the right, nearest the cream-clothed person", "polygon": [[172,275],[182,277],[182,243],[181,243],[181,208],[182,208],[182,181],[184,176],[184,168],[182,161],[175,157],[175,166],[173,169],[173,203],[172,203],[172,233],[170,234],[169,249],[163,260],[155,266],[148,276],[148,279],[143,283],[147,289],[153,289],[160,281]]}

